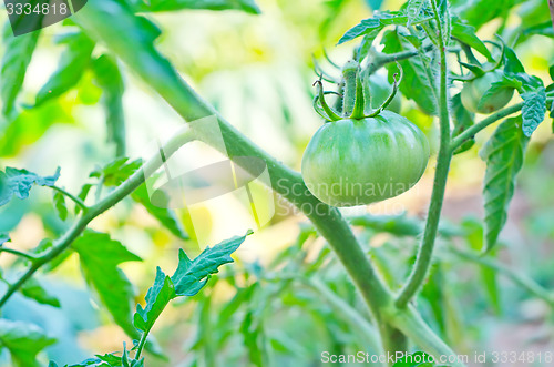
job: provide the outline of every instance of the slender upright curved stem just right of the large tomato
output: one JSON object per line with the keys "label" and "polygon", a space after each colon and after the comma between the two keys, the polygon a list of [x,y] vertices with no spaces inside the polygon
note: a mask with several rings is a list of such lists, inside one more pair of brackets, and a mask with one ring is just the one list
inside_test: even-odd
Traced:
{"label": "slender upright curved stem just right of the large tomato", "polygon": [[421,284],[427,277],[431,261],[433,257],[434,242],[437,231],[439,228],[439,220],[441,216],[442,202],[444,200],[444,191],[447,187],[447,179],[452,160],[452,151],[450,149],[450,116],[448,101],[448,84],[447,84],[447,47],[444,44],[443,29],[439,17],[437,0],[431,0],[433,7],[434,19],[439,29],[439,49],[441,54],[441,74],[440,74],[440,95],[439,95],[439,124],[440,124],[440,147],[437,157],[437,171],[434,173],[433,192],[431,194],[431,203],[423,233],[423,239],[418,251],[418,257],[408,282],[400,290],[396,306],[403,308],[410,299],[418,293]]}

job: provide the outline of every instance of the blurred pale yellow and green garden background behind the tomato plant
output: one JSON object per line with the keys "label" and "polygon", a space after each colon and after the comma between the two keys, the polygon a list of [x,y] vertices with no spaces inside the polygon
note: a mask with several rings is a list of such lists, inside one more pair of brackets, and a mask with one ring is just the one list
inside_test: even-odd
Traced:
{"label": "blurred pale yellow and green garden background behind the tomato plant", "polygon": [[[509,8],[507,21],[486,22],[479,31],[481,38],[492,39],[500,28],[509,32],[548,18],[546,1],[512,2],[515,6]],[[233,10],[186,10],[148,18],[163,31],[157,40],[160,50],[199,94],[258,145],[299,170],[302,152],[321,124],[311,108],[311,83],[317,79],[314,59],[329,73],[338,74],[322,57],[324,49],[332,61],[343,63],[355,47],[353,42],[336,47],[343,32],[370,17],[373,9],[397,10],[401,2],[257,3],[261,10],[257,16]],[[91,73],[84,73],[78,88],[61,98],[40,108],[25,106],[33,104],[37,91],[57,69],[63,48],[54,43],[54,38],[64,31],[65,27],[59,24],[43,30],[21,91],[19,113],[0,123],[0,166],[25,167],[43,175],[61,166],[60,186],[79,192],[90,180],[89,173],[112,161],[115,152],[113,144],[106,143],[99,103],[101,90]],[[552,39],[533,35],[515,49],[529,73],[550,82],[547,70],[554,62]],[[127,155],[135,159],[143,155],[153,136],[174,131],[183,122],[133,74],[124,73],[124,82]],[[517,99],[514,96],[512,103]],[[435,150],[433,119],[406,98],[402,114],[425,132]],[[481,190],[485,165],[478,153],[492,129],[480,134],[475,146],[455,156],[452,163],[443,213],[445,226],[451,226],[454,235],[445,235],[441,244],[455,242],[474,249],[482,245]],[[382,220],[377,224],[360,222],[356,231],[377,258],[381,275],[393,286],[407,275],[418,239],[383,228],[389,220],[417,225],[424,217],[433,160],[423,179],[408,193],[345,211],[347,215],[370,213]],[[509,222],[501,235],[502,246],[494,254],[547,288],[554,286],[553,172],[554,142],[552,121],[547,118],[529,146]],[[68,227],[69,223],[54,213],[51,196],[50,191],[35,188],[29,200],[14,200],[0,207],[0,232],[10,233],[14,247],[33,248],[42,238],[55,238]],[[340,302],[345,302],[366,315],[340,264],[305,217],[294,213],[281,198],[276,196],[275,201],[275,217],[247,238],[236,254],[236,263],[224,266],[199,295],[177,302],[163,314],[154,335],[167,360],[151,358],[148,366],[317,366],[324,350],[368,349],[363,326],[352,325],[341,310]],[[201,212],[203,231],[208,231],[214,241],[227,235],[229,228],[237,228],[234,234],[243,233],[244,207],[239,202],[230,200],[224,210],[205,207]],[[91,224],[144,259],[122,264],[135,285],[136,302],[144,299],[156,265],[171,272],[176,266],[177,248],[195,256],[205,246],[195,241],[187,212],[177,214],[192,239],[174,237],[131,201],[116,205]],[[456,236],[456,231],[464,231],[464,235]],[[505,277],[442,248],[439,247],[441,265],[425,286],[419,307],[456,350],[554,351],[550,305]],[[14,262],[9,254],[0,256],[7,278],[14,277],[21,268]],[[59,343],[47,349],[49,358],[59,364],[76,363],[93,354],[121,350],[123,340],[131,341],[88,290],[76,255],[54,272],[40,275],[40,281],[59,296],[61,308],[16,295],[2,310],[2,317],[33,322],[55,336]],[[335,292],[338,299],[327,297],[326,289]]]}

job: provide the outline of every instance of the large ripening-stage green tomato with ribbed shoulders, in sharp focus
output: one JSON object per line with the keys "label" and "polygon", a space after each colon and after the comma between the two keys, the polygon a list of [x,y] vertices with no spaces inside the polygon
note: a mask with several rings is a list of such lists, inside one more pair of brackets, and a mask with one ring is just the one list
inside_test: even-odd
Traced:
{"label": "large ripening-stage green tomato with ribbed shoulders, in sharp focus", "polygon": [[411,188],[428,160],[423,132],[408,119],[383,111],[322,125],[304,153],[302,176],[308,190],[329,205],[366,205]]}

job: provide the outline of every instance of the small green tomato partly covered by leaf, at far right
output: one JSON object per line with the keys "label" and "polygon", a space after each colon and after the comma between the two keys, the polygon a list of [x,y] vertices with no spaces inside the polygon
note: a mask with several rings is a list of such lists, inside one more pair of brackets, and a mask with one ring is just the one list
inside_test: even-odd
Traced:
{"label": "small green tomato partly covered by leaf, at far right", "polygon": [[494,70],[466,82],[462,89],[463,106],[470,112],[485,114],[502,109],[514,94],[512,88],[502,88],[490,95],[485,95],[492,84],[500,82],[502,78],[502,71]]}

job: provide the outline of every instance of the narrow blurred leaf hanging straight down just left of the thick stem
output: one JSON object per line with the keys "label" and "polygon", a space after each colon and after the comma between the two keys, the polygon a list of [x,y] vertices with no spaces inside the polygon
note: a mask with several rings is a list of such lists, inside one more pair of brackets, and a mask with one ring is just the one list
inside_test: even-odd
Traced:
{"label": "narrow blurred leaf hanging straight down just left of the thick stem", "polygon": [[102,103],[105,110],[107,141],[115,144],[116,156],[125,155],[125,118],[123,114],[123,79],[117,63],[107,54],[93,63],[95,81],[102,89]]}

